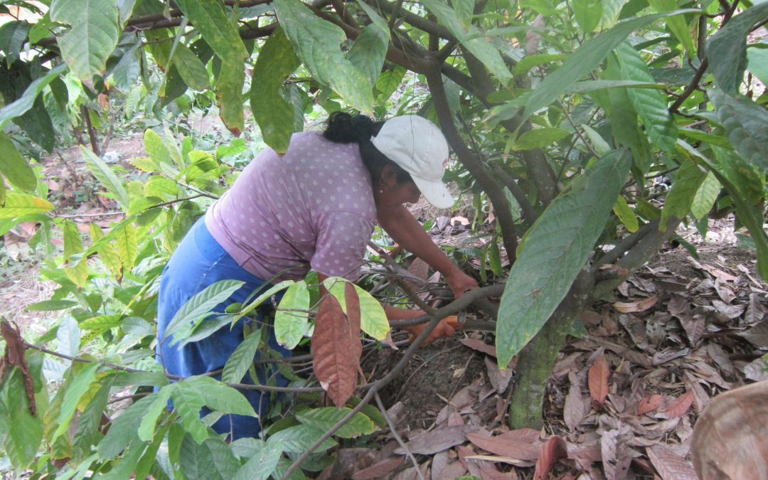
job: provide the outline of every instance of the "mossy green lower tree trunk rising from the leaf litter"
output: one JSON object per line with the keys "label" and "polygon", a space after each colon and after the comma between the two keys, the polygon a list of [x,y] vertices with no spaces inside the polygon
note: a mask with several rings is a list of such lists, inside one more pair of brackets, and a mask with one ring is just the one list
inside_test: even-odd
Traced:
{"label": "mossy green lower tree trunk rising from the leaf litter", "polygon": [[547,381],[574,319],[587,306],[593,285],[591,273],[581,270],[558,309],[518,355],[518,380],[509,404],[512,429],[541,429]]}

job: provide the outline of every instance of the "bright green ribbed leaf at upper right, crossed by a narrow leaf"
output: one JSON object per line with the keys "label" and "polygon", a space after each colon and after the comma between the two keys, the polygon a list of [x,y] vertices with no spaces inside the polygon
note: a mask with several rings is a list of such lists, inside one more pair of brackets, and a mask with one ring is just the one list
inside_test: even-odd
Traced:
{"label": "bright green ribbed leaf at upper right, crossed by a narrow leaf", "polygon": [[[654,82],[645,61],[627,42],[616,48],[621,76],[626,80]],[[651,143],[664,151],[673,151],[677,141],[677,124],[667,110],[667,100],[660,91],[647,88],[627,90],[630,101],[640,115]]]}

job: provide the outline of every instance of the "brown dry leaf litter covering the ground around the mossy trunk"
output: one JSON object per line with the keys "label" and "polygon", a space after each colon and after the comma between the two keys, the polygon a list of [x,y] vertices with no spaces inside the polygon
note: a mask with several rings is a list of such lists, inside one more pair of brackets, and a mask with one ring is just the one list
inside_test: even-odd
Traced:
{"label": "brown dry leaf litter covering the ground around the mossy trunk", "polygon": [[[515,362],[498,369],[491,334],[420,350],[382,397],[401,402],[396,425],[424,478],[697,478],[698,415],[718,393],[768,378],[768,289],[753,254],[703,250],[662,253],[581,316],[590,335],[561,350],[540,431],[506,425]],[[382,352],[376,375],[401,355]],[[389,457],[371,465],[395,465],[405,450],[380,435]],[[419,478],[407,458],[398,465],[376,478]],[[371,478],[363,472],[351,478]]]}

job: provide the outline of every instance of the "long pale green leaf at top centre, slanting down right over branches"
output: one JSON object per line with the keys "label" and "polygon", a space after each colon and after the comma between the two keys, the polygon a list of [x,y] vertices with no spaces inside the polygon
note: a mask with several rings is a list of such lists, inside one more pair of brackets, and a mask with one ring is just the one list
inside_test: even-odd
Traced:
{"label": "long pale green leaf at top centre, slanting down right over branches", "polygon": [[[457,15],[458,9],[451,8],[442,0],[425,0],[422,3],[462,43],[462,47],[475,55],[502,84],[507,85],[511,82],[512,74],[509,72],[504,58],[502,58],[498,48],[485,38],[482,30],[475,25],[468,24],[468,22],[462,22]],[[472,13],[471,8],[469,13]]]}

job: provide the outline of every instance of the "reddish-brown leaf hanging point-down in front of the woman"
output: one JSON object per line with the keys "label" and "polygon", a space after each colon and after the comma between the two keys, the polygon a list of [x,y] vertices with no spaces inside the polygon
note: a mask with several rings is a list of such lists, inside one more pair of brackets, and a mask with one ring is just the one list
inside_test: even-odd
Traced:
{"label": "reddish-brown leaf hanging point-down in front of the woman", "polygon": [[333,295],[326,294],[317,310],[312,334],[313,370],[320,386],[337,407],[352,396],[357,384],[361,347],[353,342],[349,319]]}

